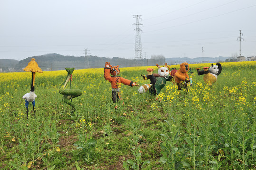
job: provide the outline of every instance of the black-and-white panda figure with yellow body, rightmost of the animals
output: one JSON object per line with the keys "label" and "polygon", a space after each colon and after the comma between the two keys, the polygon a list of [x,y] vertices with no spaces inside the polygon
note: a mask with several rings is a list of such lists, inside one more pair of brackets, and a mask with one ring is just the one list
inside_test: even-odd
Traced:
{"label": "black-and-white panda figure with yellow body, rightmost of the animals", "polygon": [[204,74],[204,82],[211,86],[213,83],[217,81],[217,76],[220,75],[222,71],[222,66],[220,63],[216,63],[216,65],[211,64],[211,67],[204,67],[204,70],[200,71],[200,68],[196,68],[198,75]]}

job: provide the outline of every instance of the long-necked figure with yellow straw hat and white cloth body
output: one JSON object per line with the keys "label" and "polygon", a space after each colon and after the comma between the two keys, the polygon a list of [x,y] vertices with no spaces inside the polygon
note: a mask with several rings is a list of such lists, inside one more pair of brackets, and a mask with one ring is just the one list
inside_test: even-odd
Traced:
{"label": "long-necked figure with yellow straw hat and white cloth body", "polygon": [[27,109],[27,118],[28,118],[29,102],[32,102],[33,111],[34,111],[34,113],[36,112],[36,110],[35,110],[35,98],[37,97],[37,95],[35,94],[35,76],[36,76],[36,72],[43,73],[43,71],[41,70],[41,68],[39,68],[38,63],[35,61],[34,58],[31,59],[31,61],[28,63],[28,66],[26,66],[23,70],[28,71],[28,72],[32,72],[32,82],[31,82],[30,92],[25,94],[22,97],[23,99],[25,99],[25,106],[26,106],[26,109]]}

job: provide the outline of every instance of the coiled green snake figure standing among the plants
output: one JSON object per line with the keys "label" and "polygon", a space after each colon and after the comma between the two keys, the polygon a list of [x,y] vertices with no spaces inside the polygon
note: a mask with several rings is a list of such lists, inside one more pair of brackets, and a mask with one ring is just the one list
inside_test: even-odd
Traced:
{"label": "coiled green snake figure standing among the plants", "polygon": [[[74,110],[76,110],[76,104],[72,102],[72,99],[78,97],[82,94],[80,89],[71,89],[72,73],[75,68],[65,68],[67,71],[66,80],[62,83],[62,88],[59,89],[59,93],[63,95],[62,101],[70,105]],[[70,80],[70,89],[65,89],[67,83]],[[70,101],[71,99],[71,101]]]}

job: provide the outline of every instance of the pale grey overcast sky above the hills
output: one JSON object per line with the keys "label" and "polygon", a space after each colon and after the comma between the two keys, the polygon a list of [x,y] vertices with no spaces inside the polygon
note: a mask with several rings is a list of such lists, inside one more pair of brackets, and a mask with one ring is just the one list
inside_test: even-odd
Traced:
{"label": "pale grey overcast sky above the hills", "polygon": [[[0,59],[256,56],[256,0],[0,0]],[[204,53],[202,53],[204,47]]]}

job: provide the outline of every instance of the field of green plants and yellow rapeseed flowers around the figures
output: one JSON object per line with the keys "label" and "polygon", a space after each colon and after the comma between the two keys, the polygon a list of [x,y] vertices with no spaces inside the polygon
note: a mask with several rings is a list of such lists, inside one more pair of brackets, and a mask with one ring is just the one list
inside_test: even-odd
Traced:
{"label": "field of green plants and yellow rapeseed flowers around the figures", "polygon": [[[120,68],[120,76],[143,85],[146,69]],[[122,84],[117,104],[103,68],[75,69],[74,112],[59,93],[66,74],[36,73],[27,119],[31,73],[0,73],[1,170],[256,169],[255,61],[223,63],[212,87],[196,74],[188,90],[167,82],[158,100]]]}

